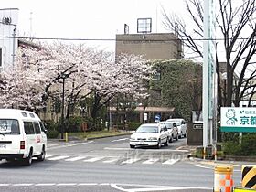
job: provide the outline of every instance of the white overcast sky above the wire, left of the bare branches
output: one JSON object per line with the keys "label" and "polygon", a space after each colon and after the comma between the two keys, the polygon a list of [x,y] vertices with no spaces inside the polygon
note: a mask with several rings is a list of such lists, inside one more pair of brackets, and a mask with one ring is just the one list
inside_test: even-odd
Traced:
{"label": "white overcast sky above the wire, left of the bare branches", "polygon": [[[183,0],[2,0],[1,8],[18,8],[20,37],[115,38],[124,23],[136,33],[137,18],[151,17],[153,32],[168,32],[162,25],[162,6],[185,12]],[[32,13],[32,14],[31,14]],[[32,18],[32,20],[31,20]],[[32,30],[31,30],[32,29]],[[91,42],[109,47],[110,42]],[[114,42],[110,49],[114,49]]]}

